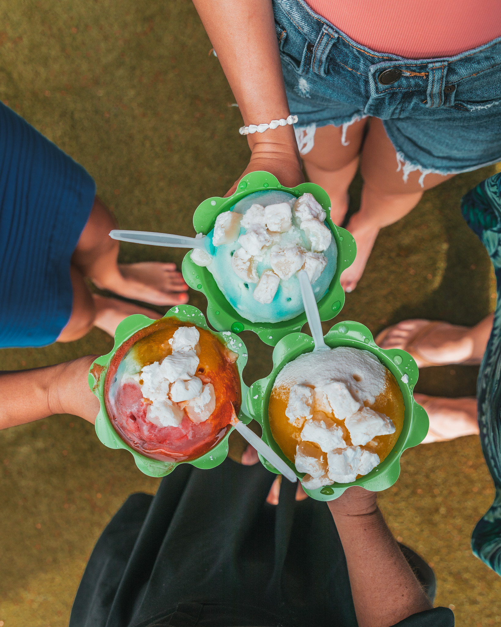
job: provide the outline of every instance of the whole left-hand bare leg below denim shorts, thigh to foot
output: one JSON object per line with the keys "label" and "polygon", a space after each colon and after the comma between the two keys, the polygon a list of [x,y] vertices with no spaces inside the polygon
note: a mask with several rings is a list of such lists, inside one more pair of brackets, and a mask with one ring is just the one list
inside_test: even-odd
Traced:
{"label": "whole left-hand bare leg below denim shorts, thigh to foot", "polygon": [[367,120],[354,122],[341,143],[342,127],[324,126],[315,132],[315,145],[303,157],[309,180],[323,187],[331,199],[331,219],[340,226],[348,211],[348,187],[358,168]]}

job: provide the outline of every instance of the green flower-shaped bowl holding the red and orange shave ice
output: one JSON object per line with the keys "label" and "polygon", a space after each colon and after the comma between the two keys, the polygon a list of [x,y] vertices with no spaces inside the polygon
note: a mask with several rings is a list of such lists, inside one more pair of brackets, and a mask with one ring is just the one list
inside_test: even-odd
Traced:
{"label": "green flower-shaped bowl holding the red and orange shave ice", "polygon": [[[239,337],[237,337],[237,335],[233,335],[230,332],[215,333],[209,329],[209,327],[207,327],[207,323],[205,322],[204,314],[202,314],[199,309],[192,307],[191,305],[172,307],[164,316],[164,318],[170,317],[181,320],[182,322],[192,322],[194,325],[197,325],[197,327],[207,329],[213,335],[218,337],[223,344],[227,345],[230,350],[238,354],[236,364],[240,375],[240,386],[242,391],[242,406],[240,407],[239,419],[245,424],[249,423],[251,418],[247,415],[248,412],[245,405],[248,387],[244,384],[242,379],[242,371],[247,363],[247,349],[245,348],[245,344]],[[108,372],[108,368],[110,367],[111,360],[124,342],[127,342],[127,340],[129,340],[134,334],[153,324],[153,322],[158,322],[158,320],[151,320],[145,315],[138,314],[131,315],[123,320],[123,322],[121,322],[116,328],[115,345],[113,346],[113,350],[111,350],[111,352],[107,355],[98,357],[98,359],[96,359],[96,361],[92,364],[89,370],[89,386],[91,391],[93,391],[99,399],[101,405],[96,418],[96,434],[101,442],[105,446],[108,446],[108,448],[125,448],[125,450],[132,453],[139,470],[150,477],[165,477],[165,475],[171,473],[175,466],[180,463],[190,463],[197,466],[197,468],[214,468],[214,466],[218,466],[222,463],[228,454],[228,436],[234,427],[229,429],[224,438],[208,453],[205,453],[205,455],[190,461],[168,462],[153,460],[150,457],[138,453],[138,451],[134,450],[120,438],[120,435],[118,435],[111,424],[111,420],[105,406],[106,374]]]}

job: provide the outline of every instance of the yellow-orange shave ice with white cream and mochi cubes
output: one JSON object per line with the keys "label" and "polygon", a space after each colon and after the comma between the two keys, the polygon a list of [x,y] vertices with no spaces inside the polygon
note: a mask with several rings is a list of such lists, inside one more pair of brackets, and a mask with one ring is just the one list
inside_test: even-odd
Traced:
{"label": "yellow-orange shave ice with white cream and mochi cubes", "polygon": [[286,364],[268,405],[271,433],[310,490],[371,472],[395,446],[404,413],[393,374],[368,350],[344,346]]}

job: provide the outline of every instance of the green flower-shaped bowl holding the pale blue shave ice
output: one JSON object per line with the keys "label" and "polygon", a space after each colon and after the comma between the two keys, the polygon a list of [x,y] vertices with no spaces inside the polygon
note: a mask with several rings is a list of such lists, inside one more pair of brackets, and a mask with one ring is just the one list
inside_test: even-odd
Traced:
{"label": "green flower-shaped bowl holding the pale blue shave ice", "polygon": [[[320,186],[314,183],[302,183],[297,187],[282,187],[276,177],[269,174],[269,172],[250,172],[239,182],[237,191],[229,198],[214,196],[214,198],[207,198],[207,200],[199,204],[193,216],[195,231],[206,235],[214,228],[215,219],[220,213],[229,211],[235,203],[245,198],[245,196],[249,196],[249,194],[272,189],[288,192],[294,196],[301,196],[309,192],[321,204],[327,214],[326,221],[333,232],[334,240],[336,240],[336,246],[338,247],[338,259],[333,280],[331,285],[329,285],[328,292],[319,301],[318,310],[321,320],[331,320],[343,308],[344,291],[339,283],[339,277],[341,277],[341,272],[353,263],[356,255],[356,245],[353,237],[346,229],[334,225],[331,220],[331,201],[327,192]],[[304,312],[284,322],[250,322],[235,311],[219,287],[217,287],[217,283],[209,270],[197,266],[191,260],[190,253],[187,253],[183,259],[182,271],[184,280],[188,285],[194,290],[204,293],[205,297],[207,297],[207,318],[214,329],[219,331],[231,329],[235,333],[240,333],[244,330],[254,331],[265,344],[274,346],[282,337],[293,331],[299,331],[306,324],[306,314]]]}

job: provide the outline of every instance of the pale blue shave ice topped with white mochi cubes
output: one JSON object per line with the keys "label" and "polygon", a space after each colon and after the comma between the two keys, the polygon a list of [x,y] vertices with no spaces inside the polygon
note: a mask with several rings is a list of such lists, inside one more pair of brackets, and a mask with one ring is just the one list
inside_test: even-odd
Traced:
{"label": "pale blue shave ice topped with white mochi cubes", "polygon": [[325,219],[312,194],[255,192],[217,216],[210,251],[195,249],[191,258],[207,267],[245,319],[290,320],[304,311],[299,270],[306,270],[317,302],[334,277],[338,251]]}

